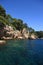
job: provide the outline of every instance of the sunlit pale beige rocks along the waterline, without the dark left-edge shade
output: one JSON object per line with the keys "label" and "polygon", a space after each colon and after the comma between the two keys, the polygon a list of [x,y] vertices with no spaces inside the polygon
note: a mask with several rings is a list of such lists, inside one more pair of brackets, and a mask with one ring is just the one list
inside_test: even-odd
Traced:
{"label": "sunlit pale beige rocks along the waterline, without the dark left-edge shade", "polygon": [[13,30],[13,27],[6,25],[4,28],[4,35],[2,36],[2,39],[37,39],[38,37],[32,33],[30,35],[29,30],[26,28],[23,28],[22,31],[19,30]]}

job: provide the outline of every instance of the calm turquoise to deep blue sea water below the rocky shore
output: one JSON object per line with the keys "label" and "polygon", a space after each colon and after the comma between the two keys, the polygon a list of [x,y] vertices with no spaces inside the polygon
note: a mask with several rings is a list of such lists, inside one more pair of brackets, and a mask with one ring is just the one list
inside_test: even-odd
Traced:
{"label": "calm turquoise to deep blue sea water below the rocky shore", "polygon": [[0,45],[0,65],[43,65],[43,40],[7,40]]}

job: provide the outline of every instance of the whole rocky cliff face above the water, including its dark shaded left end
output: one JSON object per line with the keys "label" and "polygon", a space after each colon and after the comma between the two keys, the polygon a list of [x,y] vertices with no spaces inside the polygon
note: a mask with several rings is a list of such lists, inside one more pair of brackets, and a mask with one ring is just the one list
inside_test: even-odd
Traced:
{"label": "whole rocky cliff face above the water, including its dark shaded left end", "polygon": [[[5,32],[5,33],[4,33]],[[29,30],[27,28],[23,28],[22,31],[14,30],[12,26],[4,26],[4,24],[0,23],[0,38],[1,37],[11,37],[17,39],[36,39],[37,36],[32,33],[30,35]]]}

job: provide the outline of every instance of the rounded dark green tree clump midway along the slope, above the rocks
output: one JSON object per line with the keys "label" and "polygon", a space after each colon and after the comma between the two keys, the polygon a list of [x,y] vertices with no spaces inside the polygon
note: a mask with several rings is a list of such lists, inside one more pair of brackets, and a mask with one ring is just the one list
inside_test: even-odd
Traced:
{"label": "rounded dark green tree clump midway along the slope, above the rocks", "polygon": [[28,27],[21,19],[13,19],[12,25],[15,26],[17,30],[23,30],[23,28]]}

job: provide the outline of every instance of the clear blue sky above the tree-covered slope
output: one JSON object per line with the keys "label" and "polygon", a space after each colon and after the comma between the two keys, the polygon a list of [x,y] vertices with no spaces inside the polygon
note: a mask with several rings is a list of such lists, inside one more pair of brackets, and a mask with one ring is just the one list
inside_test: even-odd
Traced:
{"label": "clear blue sky above the tree-covered slope", "polygon": [[22,19],[36,31],[43,31],[43,0],[0,0],[7,14]]}

